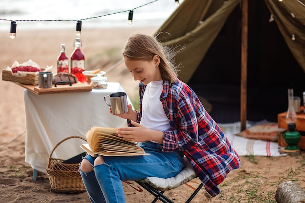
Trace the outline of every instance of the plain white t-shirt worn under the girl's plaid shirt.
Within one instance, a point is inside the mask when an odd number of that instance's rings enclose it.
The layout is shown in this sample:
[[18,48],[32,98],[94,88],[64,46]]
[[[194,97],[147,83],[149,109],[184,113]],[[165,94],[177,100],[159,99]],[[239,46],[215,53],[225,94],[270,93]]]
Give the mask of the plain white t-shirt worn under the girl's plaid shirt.
[[142,118],[140,124],[148,129],[167,131],[170,122],[166,116],[160,95],[163,90],[163,81],[152,81],[147,84],[142,100]]

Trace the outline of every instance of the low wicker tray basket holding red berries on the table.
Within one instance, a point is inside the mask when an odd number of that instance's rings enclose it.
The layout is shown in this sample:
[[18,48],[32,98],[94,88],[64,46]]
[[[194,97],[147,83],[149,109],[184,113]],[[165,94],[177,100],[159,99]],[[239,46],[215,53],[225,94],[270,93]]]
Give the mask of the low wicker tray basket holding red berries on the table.
[[25,85],[38,85],[38,73],[33,72],[21,77],[13,75],[11,71],[2,70],[2,80],[18,82]]

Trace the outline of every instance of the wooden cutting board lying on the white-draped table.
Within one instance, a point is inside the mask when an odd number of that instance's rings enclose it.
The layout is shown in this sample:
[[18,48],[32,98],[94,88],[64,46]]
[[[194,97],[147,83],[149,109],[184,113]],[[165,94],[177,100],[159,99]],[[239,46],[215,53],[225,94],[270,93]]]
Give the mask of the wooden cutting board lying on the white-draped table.
[[38,85],[24,85],[16,82],[16,84],[21,87],[26,88],[28,91],[33,92],[35,94],[55,94],[55,93],[67,93],[67,92],[90,92],[92,91],[92,86],[89,84],[82,84],[80,82],[76,84],[72,84],[72,86],[68,85],[58,85],[52,88],[39,88]]

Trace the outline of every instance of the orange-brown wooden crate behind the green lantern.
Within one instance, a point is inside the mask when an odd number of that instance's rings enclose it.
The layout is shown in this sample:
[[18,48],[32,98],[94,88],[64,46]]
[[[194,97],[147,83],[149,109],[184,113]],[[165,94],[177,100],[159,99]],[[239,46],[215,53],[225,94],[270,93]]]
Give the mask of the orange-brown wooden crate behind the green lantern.
[[[302,112],[297,114],[296,129],[298,131],[301,131],[301,134],[302,134],[300,142],[298,143],[298,146],[302,150],[305,150],[305,134],[303,134],[305,132],[305,113],[304,113],[303,109],[304,108],[301,107]],[[277,118],[278,118],[278,127],[279,128],[287,129],[286,113],[287,112],[283,112],[283,113],[278,114]],[[286,147],[287,146],[287,144],[285,142],[285,139],[283,138],[283,133],[279,134],[278,144],[281,147]]]

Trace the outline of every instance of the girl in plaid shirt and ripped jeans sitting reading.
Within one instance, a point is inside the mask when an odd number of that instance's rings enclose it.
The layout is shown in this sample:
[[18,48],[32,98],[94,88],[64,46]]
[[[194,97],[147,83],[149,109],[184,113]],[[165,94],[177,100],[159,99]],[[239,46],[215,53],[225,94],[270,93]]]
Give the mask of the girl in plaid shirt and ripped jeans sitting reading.
[[240,167],[240,160],[196,94],[177,78],[175,53],[154,37],[133,34],[122,54],[134,80],[140,81],[140,101],[139,111],[129,104],[128,112],[118,115],[127,119],[128,127],[117,134],[141,142],[150,155],[87,155],[79,171],[91,202],[125,203],[121,181],[173,177],[183,168],[183,156],[209,194],[216,196],[217,185]]

